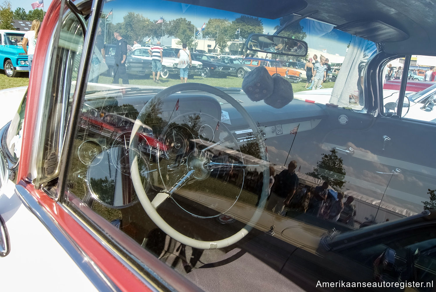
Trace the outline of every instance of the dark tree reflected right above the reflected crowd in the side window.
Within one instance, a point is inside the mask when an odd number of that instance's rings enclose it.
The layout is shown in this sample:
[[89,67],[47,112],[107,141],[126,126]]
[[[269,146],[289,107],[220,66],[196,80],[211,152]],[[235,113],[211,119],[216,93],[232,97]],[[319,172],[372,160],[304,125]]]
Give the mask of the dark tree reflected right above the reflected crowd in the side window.
[[322,154],[321,160],[317,162],[317,167],[313,172],[306,172],[317,179],[328,181],[330,186],[340,191],[345,184],[344,161],[337,156],[337,151],[332,149],[330,154]]

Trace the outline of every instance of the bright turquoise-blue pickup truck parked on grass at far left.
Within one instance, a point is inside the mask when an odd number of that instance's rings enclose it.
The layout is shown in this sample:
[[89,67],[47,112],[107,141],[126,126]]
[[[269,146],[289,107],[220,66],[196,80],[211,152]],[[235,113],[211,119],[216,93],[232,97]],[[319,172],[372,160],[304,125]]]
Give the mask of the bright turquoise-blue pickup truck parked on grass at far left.
[[29,72],[27,55],[21,47],[24,31],[0,30],[0,69],[8,77],[17,77],[20,72]]

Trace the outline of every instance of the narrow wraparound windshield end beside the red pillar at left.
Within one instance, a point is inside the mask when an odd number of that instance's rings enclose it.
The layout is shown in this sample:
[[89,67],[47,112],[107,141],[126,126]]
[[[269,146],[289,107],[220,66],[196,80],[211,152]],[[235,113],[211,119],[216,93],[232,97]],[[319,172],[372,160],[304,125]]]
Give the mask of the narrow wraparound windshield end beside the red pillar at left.
[[[49,69],[50,74],[57,77],[49,78],[47,85],[49,90],[43,103],[42,127],[38,130],[41,131],[39,134],[41,151],[34,153],[37,157],[36,161],[43,161],[42,164],[35,165],[38,175],[35,175],[34,182],[37,187],[58,175],[71,105],[70,98],[74,92],[80,68],[84,37],[80,22],[71,12],[68,12],[62,23],[57,41],[57,55],[52,56]],[[64,62],[58,62],[58,60],[64,60]],[[97,73],[91,70],[91,74]]]

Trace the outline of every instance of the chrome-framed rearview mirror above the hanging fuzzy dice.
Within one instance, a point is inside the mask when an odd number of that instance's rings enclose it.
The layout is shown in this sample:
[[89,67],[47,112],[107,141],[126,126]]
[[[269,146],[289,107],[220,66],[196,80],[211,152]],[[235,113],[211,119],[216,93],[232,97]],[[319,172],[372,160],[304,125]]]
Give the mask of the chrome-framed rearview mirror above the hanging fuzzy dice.
[[270,34],[250,34],[245,41],[245,48],[263,53],[277,55],[307,55],[307,43],[293,38],[279,37]]

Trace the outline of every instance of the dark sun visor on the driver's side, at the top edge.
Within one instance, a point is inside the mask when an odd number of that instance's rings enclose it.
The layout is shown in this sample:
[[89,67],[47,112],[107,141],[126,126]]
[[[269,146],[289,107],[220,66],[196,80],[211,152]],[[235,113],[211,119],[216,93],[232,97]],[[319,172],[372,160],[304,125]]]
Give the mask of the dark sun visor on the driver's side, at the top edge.
[[[262,0],[173,0],[174,2],[181,2],[191,5],[198,5],[203,7],[223,9],[225,10],[247,14],[254,17],[277,19],[285,15],[296,13],[307,7],[305,0],[276,0],[269,1],[268,4]],[[268,5],[268,9],[262,9],[264,5]]]

